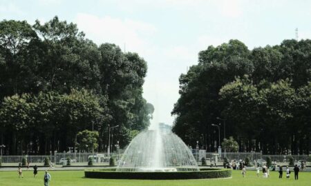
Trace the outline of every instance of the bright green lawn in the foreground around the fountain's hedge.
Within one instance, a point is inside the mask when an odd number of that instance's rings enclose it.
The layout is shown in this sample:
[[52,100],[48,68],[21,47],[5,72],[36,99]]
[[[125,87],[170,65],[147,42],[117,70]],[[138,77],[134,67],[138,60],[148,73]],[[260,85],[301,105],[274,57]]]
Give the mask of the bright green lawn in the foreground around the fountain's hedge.
[[[233,171],[232,178],[227,179],[212,179],[212,180],[104,180],[84,178],[83,171],[50,171],[52,176],[50,186],[97,186],[97,185],[133,185],[133,186],[148,186],[148,185],[209,185],[209,186],[222,186],[222,185],[293,185],[293,186],[309,186],[311,179],[311,172],[299,173],[299,180],[294,180],[294,174],[291,178],[279,179],[278,172],[270,172],[270,178],[256,177],[254,171],[247,172],[245,178],[242,177],[240,171]],[[43,183],[44,172],[39,172],[37,178],[33,178],[31,171],[24,171],[23,178],[18,178],[17,172],[0,172],[0,186],[13,185],[13,186],[35,186],[44,185]],[[283,176],[285,176],[283,174]]]

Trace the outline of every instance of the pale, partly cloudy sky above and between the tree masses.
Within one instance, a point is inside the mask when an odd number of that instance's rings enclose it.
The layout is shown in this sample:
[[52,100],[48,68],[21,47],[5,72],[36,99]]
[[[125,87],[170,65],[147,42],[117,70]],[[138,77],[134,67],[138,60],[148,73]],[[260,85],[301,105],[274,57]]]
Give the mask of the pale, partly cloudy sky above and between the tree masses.
[[243,0],[0,0],[0,20],[77,23],[97,45],[115,43],[148,64],[143,96],[154,121],[173,124],[180,74],[209,45],[238,39],[249,50],[284,39],[311,38],[311,1]]

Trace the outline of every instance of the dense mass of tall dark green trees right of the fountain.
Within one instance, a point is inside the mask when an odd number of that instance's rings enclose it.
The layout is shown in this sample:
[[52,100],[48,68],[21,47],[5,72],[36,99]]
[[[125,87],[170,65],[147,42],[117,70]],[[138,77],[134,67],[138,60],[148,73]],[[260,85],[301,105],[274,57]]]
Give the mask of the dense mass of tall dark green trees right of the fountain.
[[[180,75],[173,131],[215,151],[234,136],[239,151],[309,154],[311,143],[311,40],[248,50],[230,40],[198,54]],[[217,145],[214,145],[217,141]]]

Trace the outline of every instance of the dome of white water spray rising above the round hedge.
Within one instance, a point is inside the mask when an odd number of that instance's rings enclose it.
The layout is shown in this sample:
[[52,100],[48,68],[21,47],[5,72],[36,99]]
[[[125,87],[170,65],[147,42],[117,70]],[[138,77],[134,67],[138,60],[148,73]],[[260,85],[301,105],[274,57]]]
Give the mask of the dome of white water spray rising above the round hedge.
[[173,132],[151,125],[126,148],[117,172],[199,171],[190,149]]

